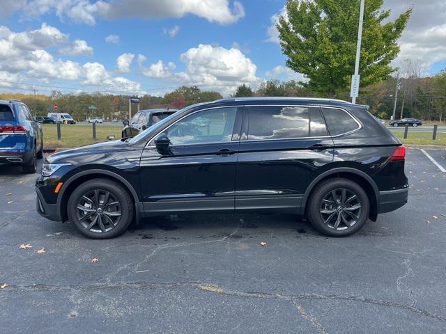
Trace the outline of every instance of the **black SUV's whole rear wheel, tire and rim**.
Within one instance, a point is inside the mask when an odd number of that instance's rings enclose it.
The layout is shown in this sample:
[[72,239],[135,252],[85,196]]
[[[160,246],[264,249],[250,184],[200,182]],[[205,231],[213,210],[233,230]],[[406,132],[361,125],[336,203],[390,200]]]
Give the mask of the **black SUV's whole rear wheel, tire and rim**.
[[[357,209],[353,211],[354,208]],[[369,198],[364,189],[342,178],[318,184],[307,202],[308,220],[316,230],[329,237],[346,237],[357,232],[369,218],[369,211]]]

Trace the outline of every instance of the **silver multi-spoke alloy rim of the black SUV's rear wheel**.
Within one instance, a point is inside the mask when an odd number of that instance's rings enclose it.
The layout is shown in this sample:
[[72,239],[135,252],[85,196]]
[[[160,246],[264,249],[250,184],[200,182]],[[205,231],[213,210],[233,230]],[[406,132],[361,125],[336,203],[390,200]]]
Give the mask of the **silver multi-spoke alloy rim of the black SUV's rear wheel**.
[[361,208],[362,204],[355,192],[339,188],[325,194],[319,212],[328,228],[347,230],[360,220]]

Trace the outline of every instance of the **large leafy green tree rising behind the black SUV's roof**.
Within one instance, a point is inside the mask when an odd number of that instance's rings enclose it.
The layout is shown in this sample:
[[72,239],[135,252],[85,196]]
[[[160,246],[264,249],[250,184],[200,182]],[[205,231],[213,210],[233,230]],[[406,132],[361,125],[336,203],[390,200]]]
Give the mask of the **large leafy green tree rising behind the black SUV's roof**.
[[[397,40],[412,12],[409,8],[394,22],[384,0],[365,1],[360,58],[361,86],[387,79],[390,62],[399,54]],[[305,74],[301,83],[319,95],[334,97],[351,85],[355,67],[360,0],[287,0],[286,17],[277,24],[286,65]]]

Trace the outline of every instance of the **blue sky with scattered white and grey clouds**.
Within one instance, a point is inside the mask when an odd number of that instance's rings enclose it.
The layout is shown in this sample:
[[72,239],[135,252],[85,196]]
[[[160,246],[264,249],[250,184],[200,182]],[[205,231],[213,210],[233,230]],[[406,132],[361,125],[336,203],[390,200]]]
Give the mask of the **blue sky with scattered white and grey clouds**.
[[[196,85],[231,95],[240,84],[303,79],[285,66],[275,22],[285,0],[0,0],[0,92],[162,96]],[[366,0],[367,2],[367,0]],[[446,0],[413,7],[392,65],[446,67]]]

